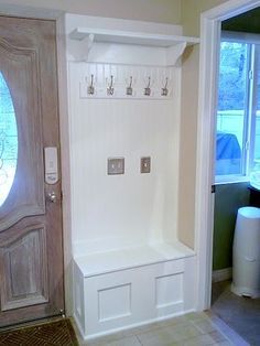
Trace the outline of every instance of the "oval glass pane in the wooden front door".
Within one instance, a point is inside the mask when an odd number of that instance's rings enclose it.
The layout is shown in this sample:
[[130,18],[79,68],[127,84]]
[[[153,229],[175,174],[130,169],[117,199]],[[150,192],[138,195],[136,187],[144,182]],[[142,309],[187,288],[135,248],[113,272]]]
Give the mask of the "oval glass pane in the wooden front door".
[[12,97],[0,72],[0,206],[7,199],[18,163],[18,127]]

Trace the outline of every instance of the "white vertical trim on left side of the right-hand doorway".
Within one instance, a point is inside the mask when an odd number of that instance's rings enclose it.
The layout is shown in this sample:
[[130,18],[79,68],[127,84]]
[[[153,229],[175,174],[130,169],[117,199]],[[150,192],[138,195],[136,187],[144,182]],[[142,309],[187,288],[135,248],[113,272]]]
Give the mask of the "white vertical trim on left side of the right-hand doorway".
[[[215,115],[216,109],[217,42],[219,42],[220,36],[219,22],[215,22],[215,25],[210,26],[208,21],[203,19],[202,33],[203,40],[207,43],[201,48],[199,99],[203,97],[204,104],[199,102],[198,106],[197,151],[199,161],[197,162],[197,201],[195,203],[195,247],[198,251],[197,293],[199,310],[210,306],[210,290],[208,288],[210,288],[212,282],[213,233],[209,233],[208,230],[213,229],[214,213],[214,194],[212,194],[212,185],[214,184],[214,162],[212,158],[214,156],[213,150],[215,148],[215,116],[208,117],[208,113]],[[208,48],[209,44],[210,50]],[[215,68],[213,68],[213,66],[215,66]],[[208,85],[212,87],[208,87]],[[207,143],[206,147],[205,143]],[[207,167],[206,170],[205,166]],[[205,213],[205,209],[207,213]]]

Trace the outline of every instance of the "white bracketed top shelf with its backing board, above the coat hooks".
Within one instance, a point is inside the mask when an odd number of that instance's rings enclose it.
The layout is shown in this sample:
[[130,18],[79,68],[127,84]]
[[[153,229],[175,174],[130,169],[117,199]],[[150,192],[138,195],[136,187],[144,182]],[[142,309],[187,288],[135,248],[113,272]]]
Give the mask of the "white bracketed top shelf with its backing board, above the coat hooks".
[[[142,61],[144,64],[152,64],[155,55],[161,55],[161,58],[155,60],[155,64],[174,66],[184,52],[183,46],[199,42],[197,37],[172,34],[176,31],[175,25],[161,25],[161,32],[158,33],[158,25],[153,23],[148,30],[147,25],[131,21],[127,21],[127,25],[121,23],[121,26],[119,22],[118,25],[115,23],[113,26],[108,26],[106,22],[100,21],[99,28],[97,23],[90,22],[91,24],[83,15],[66,15],[68,60],[140,65]],[[142,54],[138,54],[140,51]],[[153,54],[148,54],[151,51]]]

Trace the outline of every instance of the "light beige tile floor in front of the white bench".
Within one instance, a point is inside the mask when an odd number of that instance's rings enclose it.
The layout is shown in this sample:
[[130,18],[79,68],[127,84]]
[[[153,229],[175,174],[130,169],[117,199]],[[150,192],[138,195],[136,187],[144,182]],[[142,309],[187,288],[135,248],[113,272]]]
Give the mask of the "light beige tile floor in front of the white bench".
[[[75,331],[77,331],[75,326]],[[189,313],[167,321],[152,323],[117,334],[83,342],[77,333],[80,346],[205,346],[205,345],[247,345],[230,333],[221,331],[210,315]],[[240,343],[241,342],[241,343]]]

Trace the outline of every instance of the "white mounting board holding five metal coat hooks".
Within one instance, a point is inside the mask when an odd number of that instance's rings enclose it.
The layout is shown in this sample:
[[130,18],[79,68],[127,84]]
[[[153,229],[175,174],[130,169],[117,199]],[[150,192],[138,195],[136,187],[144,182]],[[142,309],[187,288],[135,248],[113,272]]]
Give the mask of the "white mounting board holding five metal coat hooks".
[[[132,66],[115,64],[88,63],[82,65],[83,77],[79,83],[79,97],[83,98],[122,98],[122,99],[145,99],[145,100],[167,100],[175,96],[176,73],[174,68],[161,66]],[[108,87],[112,76],[112,95],[108,94]],[[144,95],[150,78],[151,94]],[[127,94],[130,85],[132,95]],[[167,95],[162,94],[166,84]],[[89,94],[89,87],[93,94]]]

